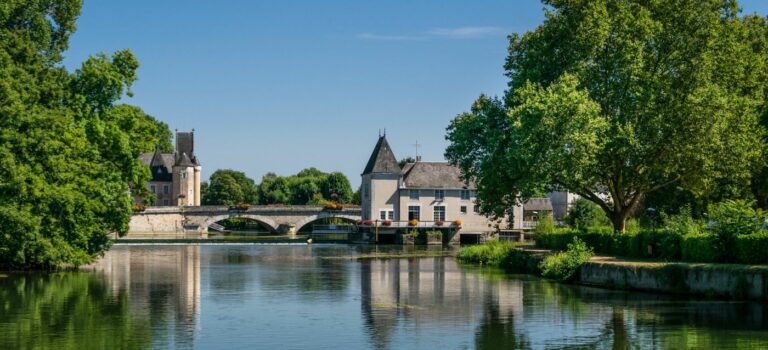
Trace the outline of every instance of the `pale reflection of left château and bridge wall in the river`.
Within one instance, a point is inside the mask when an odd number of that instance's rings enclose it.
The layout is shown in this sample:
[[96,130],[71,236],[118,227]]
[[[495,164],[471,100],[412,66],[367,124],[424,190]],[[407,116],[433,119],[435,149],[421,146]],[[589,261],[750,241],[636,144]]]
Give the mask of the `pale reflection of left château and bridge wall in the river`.
[[[199,246],[115,246],[91,267],[106,275],[115,296],[127,294],[134,318],[150,320],[154,330],[169,330],[155,334],[155,341],[192,344],[200,316]],[[155,325],[162,322],[169,324]]]

